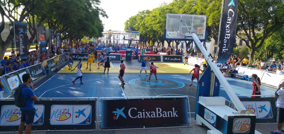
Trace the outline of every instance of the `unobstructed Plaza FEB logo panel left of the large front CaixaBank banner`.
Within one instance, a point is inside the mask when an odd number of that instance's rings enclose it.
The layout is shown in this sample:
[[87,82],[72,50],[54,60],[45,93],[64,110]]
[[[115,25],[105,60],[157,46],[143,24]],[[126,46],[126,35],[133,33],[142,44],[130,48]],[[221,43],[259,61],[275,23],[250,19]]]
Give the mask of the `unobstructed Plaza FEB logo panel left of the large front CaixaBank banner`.
[[49,119],[50,124],[90,124],[91,110],[91,105],[52,105]]

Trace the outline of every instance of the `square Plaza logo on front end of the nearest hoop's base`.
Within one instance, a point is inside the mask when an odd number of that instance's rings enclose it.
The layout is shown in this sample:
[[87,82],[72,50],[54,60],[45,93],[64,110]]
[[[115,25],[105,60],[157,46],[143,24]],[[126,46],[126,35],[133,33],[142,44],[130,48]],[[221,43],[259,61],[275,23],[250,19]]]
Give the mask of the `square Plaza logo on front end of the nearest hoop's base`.
[[249,133],[250,118],[235,118],[233,121],[233,133]]

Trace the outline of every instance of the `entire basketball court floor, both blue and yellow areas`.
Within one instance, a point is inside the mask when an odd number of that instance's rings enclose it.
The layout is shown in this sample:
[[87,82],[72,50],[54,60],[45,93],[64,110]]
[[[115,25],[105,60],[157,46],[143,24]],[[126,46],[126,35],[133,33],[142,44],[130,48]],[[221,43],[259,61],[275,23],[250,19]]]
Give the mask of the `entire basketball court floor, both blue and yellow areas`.
[[[40,98],[81,98],[81,97],[134,97],[134,96],[189,96],[190,112],[195,112],[195,101],[197,92],[197,80],[193,81],[191,87],[191,76],[188,73],[194,66],[183,65],[183,63],[154,63],[157,66],[158,82],[155,75],[152,75],[151,81],[147,82],[149,76],[145,71],[139,76],[141,64],[137,60],[124,62],[126,65],[123,79],[126,83],[120,85],[118,79],[119,62],[111,62],[109,74],[103,74],[102,66],[97,68],[97,64],[92,63],[91,71],[86,68],[86,62],[83,62],[83,83],[80,80],[72,84],[72,80],[77,77],[76,70],[68,70],[65,64],[57,73],[46,75],[42,80],[36,81],[37,87],[34,93]],[[74,62],[76,65],[77,62]],[[147,63],[149,65],[149,63]],[[74,66],[74,65],[73,65]],[[148,68],[147,68],[148,69]],[[147,70],[149,75],[149,70]],[[200,73],[201,77],[201,73]],[[232,86],[237,95],[250,95],[252,93],[252,83],[237,78],[227,77],[226,80]],[[261,86],[262,95],[273,95],[275,89]],[[220,96],[230,101],[224,88],[220,87]]]

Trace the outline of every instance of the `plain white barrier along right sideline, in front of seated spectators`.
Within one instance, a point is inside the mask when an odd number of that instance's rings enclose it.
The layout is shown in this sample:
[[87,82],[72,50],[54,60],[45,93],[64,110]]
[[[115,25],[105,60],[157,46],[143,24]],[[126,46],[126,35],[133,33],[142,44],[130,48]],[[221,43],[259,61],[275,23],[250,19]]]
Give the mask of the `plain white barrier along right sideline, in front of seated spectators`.
[[257,76],[261,80],[261,83],[264,83],[266,85],[278,87],[279,83],[284,80],[283,74],[276,74],[274,72],[244,66],[238,66],[238,68],[240,68],[238,70],[239,76],[251,76],[252,74],[257,74]]

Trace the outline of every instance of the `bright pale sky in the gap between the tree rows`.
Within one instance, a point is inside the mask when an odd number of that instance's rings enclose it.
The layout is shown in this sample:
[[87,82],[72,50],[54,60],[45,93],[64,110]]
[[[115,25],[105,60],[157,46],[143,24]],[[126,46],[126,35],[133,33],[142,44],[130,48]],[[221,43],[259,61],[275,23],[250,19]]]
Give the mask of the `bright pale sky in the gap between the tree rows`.
[[139,11],[152,10],[162,2],[169,4],[173,0],[101,0],[99,7],[105,10],[108,18],[102,18],[104,31],[124,31],[124,23]]

